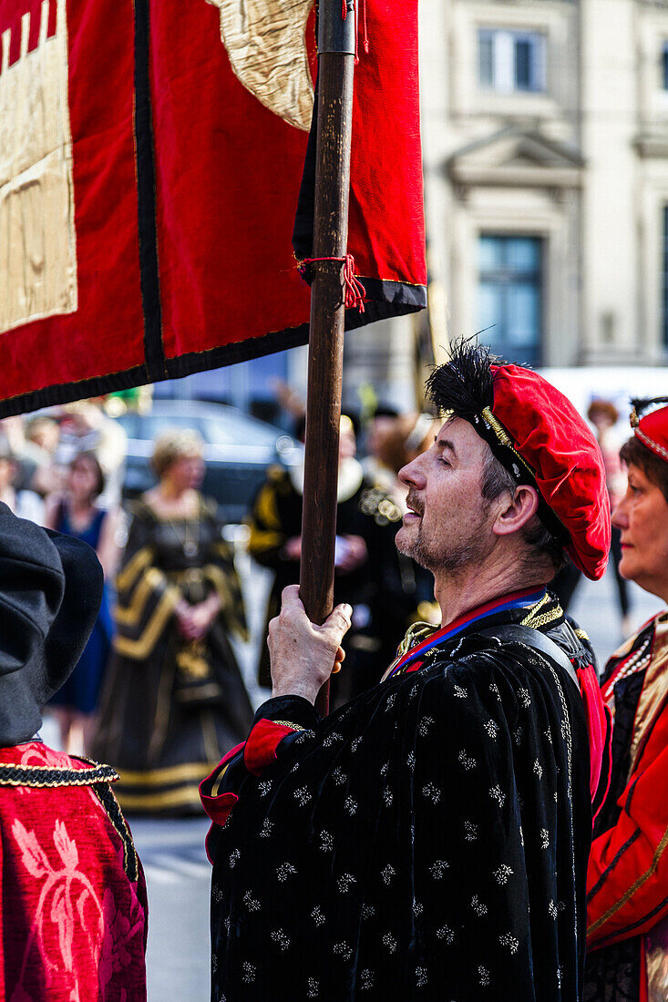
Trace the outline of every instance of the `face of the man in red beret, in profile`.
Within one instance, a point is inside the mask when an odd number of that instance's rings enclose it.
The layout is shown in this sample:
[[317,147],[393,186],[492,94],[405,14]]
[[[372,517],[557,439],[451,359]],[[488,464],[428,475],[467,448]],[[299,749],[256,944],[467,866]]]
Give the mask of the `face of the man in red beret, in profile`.
[[397,548],[434,574],[479,563],[493,546],[493,515],[480,493],[487,450],[467,421],[453,418],[399,471],[410,510]]

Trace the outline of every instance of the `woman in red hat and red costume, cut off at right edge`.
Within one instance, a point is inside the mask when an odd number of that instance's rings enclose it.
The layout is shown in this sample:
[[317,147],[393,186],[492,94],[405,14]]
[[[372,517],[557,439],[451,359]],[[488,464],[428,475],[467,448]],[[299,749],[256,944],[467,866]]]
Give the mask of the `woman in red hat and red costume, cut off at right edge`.
[[[622,575],[668,603],[668,398],[634,401],[615,511]],[[663,406],[660,406],[663,405]],[[668,611],[610,659],[612,777],[588,871],[585,1002],[668,999]]]

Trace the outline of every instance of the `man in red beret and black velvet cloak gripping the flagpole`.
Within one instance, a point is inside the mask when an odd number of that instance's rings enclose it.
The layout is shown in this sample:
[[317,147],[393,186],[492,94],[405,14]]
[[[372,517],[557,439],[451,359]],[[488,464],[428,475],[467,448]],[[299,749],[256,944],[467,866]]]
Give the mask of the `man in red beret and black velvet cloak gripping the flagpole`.
[[442,625],[320,719],[350,608],[315,626],[285,589],[273,698],[202,787],[217,1000],[581,996],[607,720],[547,585],[565,551],[605,569],[602,457],[565,397],[483,348],[428,391],[445,421],[400,473],[397,545],[433,572]]

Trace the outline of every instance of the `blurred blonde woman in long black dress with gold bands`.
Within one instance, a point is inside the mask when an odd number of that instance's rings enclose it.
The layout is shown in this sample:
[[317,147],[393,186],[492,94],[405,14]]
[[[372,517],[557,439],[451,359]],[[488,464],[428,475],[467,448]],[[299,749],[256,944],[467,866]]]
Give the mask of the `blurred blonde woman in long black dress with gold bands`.
[[120,774],[128,812],[200,813],[200,781],[252,720],[229,639],[246,638],[244,606],[216,503],[199,491],[201,439],[166,432],[152,465],[157,485],[130,506],[94,756]]

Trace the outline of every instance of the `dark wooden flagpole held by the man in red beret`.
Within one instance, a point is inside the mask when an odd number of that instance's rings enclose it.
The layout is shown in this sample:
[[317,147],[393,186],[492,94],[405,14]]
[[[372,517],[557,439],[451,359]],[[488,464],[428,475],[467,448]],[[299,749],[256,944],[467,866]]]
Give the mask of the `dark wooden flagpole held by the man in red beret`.
[[[355,11],[318,8],[318,130],[313,259],[343,259],[348,244]],[[316,261],[311,287],[300,597],[312,622],[333,607],[336,490],[345,318],[343,263]],[[316,702],[329,708],[329,683]]]

